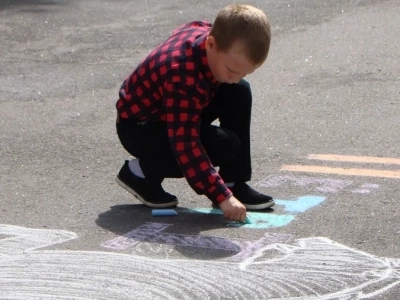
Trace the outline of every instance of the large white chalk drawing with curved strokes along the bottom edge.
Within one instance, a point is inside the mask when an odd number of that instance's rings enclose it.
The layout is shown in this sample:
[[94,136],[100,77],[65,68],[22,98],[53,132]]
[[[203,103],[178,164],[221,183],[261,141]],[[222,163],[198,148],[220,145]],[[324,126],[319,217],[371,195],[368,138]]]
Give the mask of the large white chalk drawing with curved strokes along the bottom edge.
[[234,263],[39,249],[76,238],[62,230],[0,225],[0,236],[1,299],[375,299],[400,283],[399,259],[327,238]]

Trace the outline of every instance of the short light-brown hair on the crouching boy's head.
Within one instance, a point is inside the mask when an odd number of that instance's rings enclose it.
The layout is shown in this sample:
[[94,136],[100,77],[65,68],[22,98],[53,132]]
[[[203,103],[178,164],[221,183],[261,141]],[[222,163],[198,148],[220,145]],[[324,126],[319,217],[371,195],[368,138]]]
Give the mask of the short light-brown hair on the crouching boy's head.
[[234,4],[223,8],[211,28],[219,50],[227,52],[235,42],[243,45],[244,54],[254,64],[268,56],[271,27],[265,13],[253,6]]

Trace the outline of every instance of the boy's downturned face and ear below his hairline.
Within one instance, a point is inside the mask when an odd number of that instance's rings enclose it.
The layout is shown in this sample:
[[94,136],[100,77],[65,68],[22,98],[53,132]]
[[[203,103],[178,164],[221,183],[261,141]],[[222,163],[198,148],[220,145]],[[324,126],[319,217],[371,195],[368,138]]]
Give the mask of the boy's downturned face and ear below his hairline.
[[249,62],[238,42],[224,52],[218,49],[214,37],[209,36],[206,40],[206,50],[211,73],[221,83],[238,83],[259,67]]

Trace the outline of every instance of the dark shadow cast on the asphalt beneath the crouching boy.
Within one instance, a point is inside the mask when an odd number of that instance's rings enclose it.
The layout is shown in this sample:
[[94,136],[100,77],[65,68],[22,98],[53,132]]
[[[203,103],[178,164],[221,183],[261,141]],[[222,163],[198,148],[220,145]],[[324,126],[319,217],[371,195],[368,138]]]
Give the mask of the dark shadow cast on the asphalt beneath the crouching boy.
[[147,232],[140,231],[140,234],[135,234],[134,240],[170,244],[176,251],[190,258],[221,259],[239,254],[243,250],[240,243],[229,238],[200,234],[208,230],[229,228],[222,215],[193,213],[182,207],[174,209],[177,216],[153,217],[152,209],[141,204],[115,205],[99,214],[96,224],[127,238],[131,238],[127,235],[129,232],[146,224],[168,224],[167,228],[156,233],[151,229]]

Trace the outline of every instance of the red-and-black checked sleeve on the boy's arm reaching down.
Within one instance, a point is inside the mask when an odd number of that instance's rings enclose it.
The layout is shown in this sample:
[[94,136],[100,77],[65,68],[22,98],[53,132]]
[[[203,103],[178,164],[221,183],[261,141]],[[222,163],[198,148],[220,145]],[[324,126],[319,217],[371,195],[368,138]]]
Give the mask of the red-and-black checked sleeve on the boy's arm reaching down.
[[192,189],[210,200],[222,202],[232,192],[225,185],[200,140],[200,115],[205,91],[196,85],[166,83],[164,106],[168,137],[182,173]]

